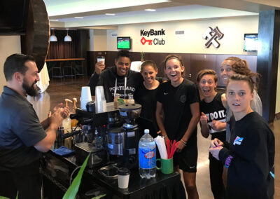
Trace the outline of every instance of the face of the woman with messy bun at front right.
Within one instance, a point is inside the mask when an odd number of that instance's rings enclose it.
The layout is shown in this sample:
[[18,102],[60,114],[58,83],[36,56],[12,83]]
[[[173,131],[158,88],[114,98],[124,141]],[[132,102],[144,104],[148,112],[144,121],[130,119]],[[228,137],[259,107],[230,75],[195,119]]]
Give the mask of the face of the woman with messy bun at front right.
[[247,81],[231,80],[225,95],[235,119],[239,120],[251,111],[250,103],[253,99],[253,92]]

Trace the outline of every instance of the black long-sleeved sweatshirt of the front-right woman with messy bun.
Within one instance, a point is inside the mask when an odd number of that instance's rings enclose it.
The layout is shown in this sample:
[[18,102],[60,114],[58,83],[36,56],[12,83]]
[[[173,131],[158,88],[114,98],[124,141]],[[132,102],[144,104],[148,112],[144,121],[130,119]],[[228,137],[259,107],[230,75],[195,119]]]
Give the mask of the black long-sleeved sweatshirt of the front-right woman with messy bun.
[[272,177],[275,138],[267,122],[256,112],[230,119],[230,149],[219,159],[228,167],[228,198],[273,198]]

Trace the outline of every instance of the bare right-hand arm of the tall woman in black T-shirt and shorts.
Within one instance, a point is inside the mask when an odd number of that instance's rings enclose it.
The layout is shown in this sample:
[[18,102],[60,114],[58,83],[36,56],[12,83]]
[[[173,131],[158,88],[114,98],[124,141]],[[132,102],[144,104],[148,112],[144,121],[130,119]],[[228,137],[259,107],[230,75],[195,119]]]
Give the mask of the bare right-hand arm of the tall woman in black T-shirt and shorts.
[[195,102],[190,104],[190,111],[192,113],[192,118],[190,119],[190,123],[188,124],[188,129],[186,130],[185,135],[183,135],[179,142],[176,150],[178,152],[180,152],[186,146],[188,139],[193,134],[193,131],[197,127],[197,123],[200,121],[200,103]]

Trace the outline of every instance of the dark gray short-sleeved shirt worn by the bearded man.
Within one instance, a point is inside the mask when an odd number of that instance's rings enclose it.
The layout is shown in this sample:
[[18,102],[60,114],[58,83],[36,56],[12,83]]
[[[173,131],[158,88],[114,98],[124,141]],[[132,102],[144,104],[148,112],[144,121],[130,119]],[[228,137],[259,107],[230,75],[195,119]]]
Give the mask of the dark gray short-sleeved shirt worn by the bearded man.
[[45,130],[32,104],[6,86],[0,97],[0,127],[0,170],[29,165],[41,157],[34,144],[45,138]]

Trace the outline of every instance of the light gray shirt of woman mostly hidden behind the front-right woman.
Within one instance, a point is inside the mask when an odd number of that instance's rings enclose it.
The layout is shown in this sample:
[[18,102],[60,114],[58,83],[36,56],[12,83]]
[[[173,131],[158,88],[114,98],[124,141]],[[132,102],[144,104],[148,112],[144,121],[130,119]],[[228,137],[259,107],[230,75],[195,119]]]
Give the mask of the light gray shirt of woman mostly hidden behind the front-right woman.
[[[256,90],[253,90],[253,100],[251,101],[251,108],[253,111],[257,112],[260,116],[262,116],[262,101],[260,100],[260,96],[258,96],[258,92]],[[230,107],[227,104],[227,129],[226,129],[226,141],[230,141],[230,118],[232,117],[232,111],[230,110]]]

